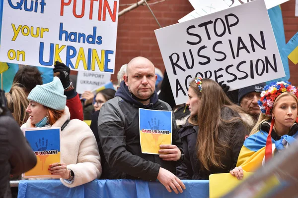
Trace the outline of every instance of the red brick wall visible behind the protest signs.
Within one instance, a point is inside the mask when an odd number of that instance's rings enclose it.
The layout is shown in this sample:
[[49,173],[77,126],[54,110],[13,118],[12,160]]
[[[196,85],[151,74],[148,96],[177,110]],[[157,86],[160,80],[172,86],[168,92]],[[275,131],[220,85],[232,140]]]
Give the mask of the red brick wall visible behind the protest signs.
[[[136,1],[137,0],[120,0],[120,4],[134,3]],[[150,0],[149,3],[155,1],[157,0]],[[120,6],[119,10],[121,11],[126,7],[128,6]],[[188,0],[167,0],[150,5],[150,7],[162,27],[177,23],[178,19],[193,10]],[[295,17],[295,0],[283,3],[281,7],[284,18],[286,42],[288,42],[298,31],[298,17]],[[154,34],[154,30],[158,28],[147,6],[139,6],[119,17],[116,66],[115,75],[112,75],[113,81],[117,81],[117,72],[121,65],[128,63],[128,61],[136,56],[149,58],[155,67],[164,71],[163,61]],[[298,85],[298,65],[294,65],[290,60],[289,64],[291,72],[290,81],[294,85]]]

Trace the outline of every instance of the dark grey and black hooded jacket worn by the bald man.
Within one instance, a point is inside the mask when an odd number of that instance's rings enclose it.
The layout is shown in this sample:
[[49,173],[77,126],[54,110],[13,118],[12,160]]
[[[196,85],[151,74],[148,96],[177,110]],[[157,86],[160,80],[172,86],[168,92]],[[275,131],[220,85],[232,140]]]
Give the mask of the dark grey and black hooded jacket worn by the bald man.
[[[177,162],[164,161],[155,154],[144,154],[140,145],[139,108],[169,110],[171,107],[159,100],[156,92],[149,105],[137,101],[121,82],[115,98],[105,102],[98,117],[98,135],[106,158],[104,170],[108,179],[156,180],[159,168],[175,173]],[[182,145],[172,113],[172,144]]]

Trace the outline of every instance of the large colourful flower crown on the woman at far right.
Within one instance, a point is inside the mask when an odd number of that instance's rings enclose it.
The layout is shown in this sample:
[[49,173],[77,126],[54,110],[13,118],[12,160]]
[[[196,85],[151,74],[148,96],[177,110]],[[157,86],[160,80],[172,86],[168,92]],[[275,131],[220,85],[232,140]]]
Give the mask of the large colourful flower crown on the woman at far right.
[[288,81],[281,81],[266,85],[264,91],[261,93],[261,98],[258,101],[261,112],[264,115],[271,116],[275,99],[284,92],[291,92],[298,97],[296,87],[291,85]]

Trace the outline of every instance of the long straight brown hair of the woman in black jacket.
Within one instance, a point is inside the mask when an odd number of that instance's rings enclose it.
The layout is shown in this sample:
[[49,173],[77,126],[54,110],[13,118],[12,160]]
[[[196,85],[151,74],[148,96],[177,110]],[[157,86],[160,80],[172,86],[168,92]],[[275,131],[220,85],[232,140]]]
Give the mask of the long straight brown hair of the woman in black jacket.
[[[230,149],[232,127],[242,121],[237,116],[226,116],[223,108],[228,107],[236,113],[245,112],[240,106],[233,104],[221,86],[211,79],[202,79],[202,92],[199,91],[195,80],[190,82],[190,89],[199,97],[197,115],[191,116],[189,122],[199,126],[196,147],[201,168],[223,168],[222,157]],[[224,119],[225,117],[228,117],[228,120]]]

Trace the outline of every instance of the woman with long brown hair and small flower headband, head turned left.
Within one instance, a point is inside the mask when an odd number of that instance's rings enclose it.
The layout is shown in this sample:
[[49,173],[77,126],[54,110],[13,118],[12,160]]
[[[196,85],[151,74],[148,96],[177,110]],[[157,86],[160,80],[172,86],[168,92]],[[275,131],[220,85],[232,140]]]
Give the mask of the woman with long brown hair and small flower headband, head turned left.
[[237,162],[253,119],[233,104],[222,87],[211,79],[190,82],[191,116],[180,129],[184,160],[176,169],[180,179],[209,179],[210,174],[228,173]]

